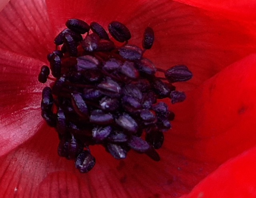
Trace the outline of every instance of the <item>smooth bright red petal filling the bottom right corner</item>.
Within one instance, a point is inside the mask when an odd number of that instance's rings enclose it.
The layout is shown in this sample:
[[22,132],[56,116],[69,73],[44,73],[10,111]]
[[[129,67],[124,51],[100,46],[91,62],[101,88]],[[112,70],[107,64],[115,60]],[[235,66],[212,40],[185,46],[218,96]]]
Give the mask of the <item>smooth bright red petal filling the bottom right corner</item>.
[[255,159],[256,147],[222,165],[182,198],[255,198]]

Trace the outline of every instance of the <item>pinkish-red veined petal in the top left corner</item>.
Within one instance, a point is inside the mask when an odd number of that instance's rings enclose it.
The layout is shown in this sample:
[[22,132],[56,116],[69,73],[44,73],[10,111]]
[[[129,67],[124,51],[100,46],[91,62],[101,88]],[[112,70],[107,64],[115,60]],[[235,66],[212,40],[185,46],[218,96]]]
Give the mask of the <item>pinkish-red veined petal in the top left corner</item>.
[[0,22],[2,49],[46,60],[54,45],[44,0],[11,0],[0,12]]

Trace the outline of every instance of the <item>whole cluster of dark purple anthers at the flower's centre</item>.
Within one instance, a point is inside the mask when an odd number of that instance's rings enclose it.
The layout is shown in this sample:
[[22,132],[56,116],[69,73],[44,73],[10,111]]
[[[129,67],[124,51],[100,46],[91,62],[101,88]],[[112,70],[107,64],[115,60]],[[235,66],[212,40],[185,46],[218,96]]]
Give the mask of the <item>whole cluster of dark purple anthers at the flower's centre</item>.
[[60,139],[58,155],[75,160],[81,173],[95,165],[93,145],[102,145],[115,159],[125,159],[132,149],[160,161],[156,149],[175,117],[161,99],[170,105],[185,100],[172,82],[189,80],[192,73],[185,65],[157,68],[144,57],[154,42],[150,27],[141,49],[128,44],[130,31],[120,22],[111,22],[108,31],[122,46],[96,22],[89,26],[70,19],[66,26],[47,55],[50,69],[44,65],[38,75],[41,83],[53,81],[42,90],[40,106],[42,118]]

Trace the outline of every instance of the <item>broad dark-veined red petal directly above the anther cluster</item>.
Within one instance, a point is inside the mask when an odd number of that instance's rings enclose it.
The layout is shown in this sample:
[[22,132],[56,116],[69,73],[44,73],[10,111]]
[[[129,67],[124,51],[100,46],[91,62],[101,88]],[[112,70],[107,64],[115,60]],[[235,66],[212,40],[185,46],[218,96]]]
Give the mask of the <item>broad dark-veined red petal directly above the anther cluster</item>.
[[76,0],[72,4],[69,0],[46,0],[46,4],[52,25],[58,31],[68,18],[97,21],[104,27],[119,20],[130,28],[130,42],[140,46],[144,28],[149,25],[156,39],[146,57],[162,68],[188,65],[194,73],[190,88],[255,51],[255,36],[248,26],[170,0]]

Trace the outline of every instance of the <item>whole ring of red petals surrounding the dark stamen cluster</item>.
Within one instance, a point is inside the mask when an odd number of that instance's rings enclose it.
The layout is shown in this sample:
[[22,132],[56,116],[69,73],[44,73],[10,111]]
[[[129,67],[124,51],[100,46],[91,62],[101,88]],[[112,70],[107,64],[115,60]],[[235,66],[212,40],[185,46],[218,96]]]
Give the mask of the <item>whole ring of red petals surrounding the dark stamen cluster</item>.
[[[170,0],[69,2],[11,0],[0,13],[1,196],[255,197],[255,14],[246,12],[255,3],[228,10],[199,0],[183,1],[198,7]],[[104,27],[121,21],[136,45],[150,25],[156,42],[145,56],[162,68],[178,63],[192,70],[193,80],[179,85],[187,100],[170,106],[176,119],[160,162],[136,153],[117,161],[96,147],[96,166],[81,174],[58,157],[58,137],[40,117],[37,74],[68,18]]]

